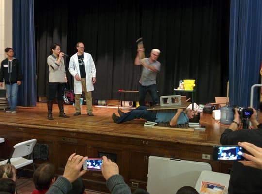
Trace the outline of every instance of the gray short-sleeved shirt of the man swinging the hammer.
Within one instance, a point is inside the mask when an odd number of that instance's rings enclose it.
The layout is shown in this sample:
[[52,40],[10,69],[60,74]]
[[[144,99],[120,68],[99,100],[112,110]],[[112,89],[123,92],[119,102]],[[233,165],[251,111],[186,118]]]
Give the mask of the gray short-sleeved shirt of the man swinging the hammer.
[[[148,65],[154,66],[158,72],[160,71],[160,63],[158,61],[150,63],[149,58],[144,58],[142,60],[144,60]],[[143,71],[139,83],[144,86],[156,84],[156,76],[157,76],[157,72],[154,72],[143,66]]]

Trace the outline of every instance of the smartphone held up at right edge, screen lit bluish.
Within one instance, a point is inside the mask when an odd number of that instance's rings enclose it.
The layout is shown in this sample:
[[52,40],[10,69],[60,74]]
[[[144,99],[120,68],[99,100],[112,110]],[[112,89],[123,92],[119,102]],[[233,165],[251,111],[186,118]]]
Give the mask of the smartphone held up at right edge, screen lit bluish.
[[237,145],[229,146],[214,146],[213,160],[215,161],[239,161],[244,160],[242,153],[245,153],[245,149]]

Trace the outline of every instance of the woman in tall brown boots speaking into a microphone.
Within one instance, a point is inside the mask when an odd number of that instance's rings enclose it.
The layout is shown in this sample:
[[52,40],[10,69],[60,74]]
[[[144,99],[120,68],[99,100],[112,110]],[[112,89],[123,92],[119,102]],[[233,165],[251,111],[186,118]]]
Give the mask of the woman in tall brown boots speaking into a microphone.
[[61,52],[60,45],[51,45],[51,55],[47,58],[47,63],[49,66],[49,96],[48,96],[48,120],[54,120],[53,118],[53,100],[57,93],[57,102],[59,108],[59,117],[69,118],[64,113],[64,91],[66,87],[67,77],[66,68],[64,64],[63,56],[65,54]]

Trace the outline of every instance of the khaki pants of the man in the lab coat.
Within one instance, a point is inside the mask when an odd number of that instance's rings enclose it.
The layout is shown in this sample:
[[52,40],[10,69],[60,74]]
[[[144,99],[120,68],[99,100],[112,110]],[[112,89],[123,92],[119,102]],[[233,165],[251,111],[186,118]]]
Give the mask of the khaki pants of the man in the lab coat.
[[[82,84],[82,91],[84,90],[85,94],[85,99],[86,99],[86,111],[87,113],[92,113],[92,92],[87,92],[86,91],[86,82],[85,78],[81,78],[81,84]],[[81,107],[80,107],[80,96],[81,94],[75,94],[75,101],[76,101],[76,112],[81,112]]]

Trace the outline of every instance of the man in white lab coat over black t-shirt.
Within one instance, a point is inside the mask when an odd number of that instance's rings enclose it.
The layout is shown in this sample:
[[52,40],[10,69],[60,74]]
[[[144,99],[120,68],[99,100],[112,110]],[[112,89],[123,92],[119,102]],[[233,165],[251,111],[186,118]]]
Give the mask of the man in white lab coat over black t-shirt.
[[85,92],[87,115],[94,116],[92,113],[92,91],[96,82],[96,67],[92,56],[84,52],[84,44],[78,42],[76,45],[77,53],[70,58],[69,72],[74,77],[75,107],[74,116],[81,114],[80,96],[82,90]]

